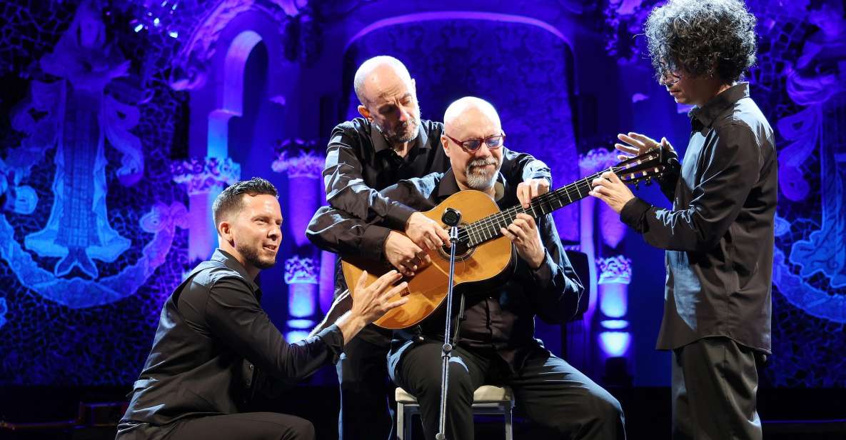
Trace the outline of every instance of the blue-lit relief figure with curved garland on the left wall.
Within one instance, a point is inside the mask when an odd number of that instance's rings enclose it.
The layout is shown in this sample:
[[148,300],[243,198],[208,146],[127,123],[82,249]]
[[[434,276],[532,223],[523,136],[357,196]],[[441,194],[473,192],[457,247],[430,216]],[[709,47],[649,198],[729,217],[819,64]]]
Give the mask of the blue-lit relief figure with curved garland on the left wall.
[[[107,304],[135,294],[162,265],[175,228],[186,227],[187,213],[179,202],[154,203],[140,217],[140,229],[153,234],[141,256],[101,277],[96,261],[113,262],[132,245],[109,222],[106,149],[120,153],[115,170],[120,184],[133,186],[144,174],[141,141],[130,132],[140,112],[107,93],[113,80],[128,75],[129,61],[106,41],[102,12],[85,2],[39,66],[58,80],[33,80],[30,96],[14,108],[12,126],[24,138],[0,159],[0,190],[7,194],[6,211],[34,212],[36,191],[25,182],[54,150],[52,208],[45,226],[23,237],[26,250],[0,215],[0,258],[22,284],[48,300],[71,308]],[[58,260],[47,271],[34,255]]]

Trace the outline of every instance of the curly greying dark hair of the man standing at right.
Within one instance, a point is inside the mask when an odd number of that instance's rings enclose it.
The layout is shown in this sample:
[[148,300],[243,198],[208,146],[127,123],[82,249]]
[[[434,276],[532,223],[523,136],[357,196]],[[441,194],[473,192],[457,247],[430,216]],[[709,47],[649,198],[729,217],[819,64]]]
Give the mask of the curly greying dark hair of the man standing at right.
[[670,0],[646,19],[656,78],[684,69],[695,77],[740,80],[755,63],[755,15],[743,0]]

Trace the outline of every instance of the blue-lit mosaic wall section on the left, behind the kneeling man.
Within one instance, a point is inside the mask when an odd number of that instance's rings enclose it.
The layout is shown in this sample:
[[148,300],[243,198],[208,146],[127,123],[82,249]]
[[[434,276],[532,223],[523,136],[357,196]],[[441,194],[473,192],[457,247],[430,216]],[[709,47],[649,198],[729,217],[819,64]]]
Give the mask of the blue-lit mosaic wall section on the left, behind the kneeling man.
[[[185,269],[172,38],[98,3],[3,3],[0,381],[132,382]],[[132,54],[131,59],[125,54]]]

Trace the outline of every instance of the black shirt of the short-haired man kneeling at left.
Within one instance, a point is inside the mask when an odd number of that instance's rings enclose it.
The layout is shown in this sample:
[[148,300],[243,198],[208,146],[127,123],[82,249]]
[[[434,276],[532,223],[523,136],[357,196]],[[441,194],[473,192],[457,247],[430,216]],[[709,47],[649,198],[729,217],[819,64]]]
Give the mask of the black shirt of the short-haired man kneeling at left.
[[336,362],[338,326],[288,344],[261,309],[261,289],[233,256],[216,250],[165,301],[123,421],[163,425],[186,416],[242,412]]

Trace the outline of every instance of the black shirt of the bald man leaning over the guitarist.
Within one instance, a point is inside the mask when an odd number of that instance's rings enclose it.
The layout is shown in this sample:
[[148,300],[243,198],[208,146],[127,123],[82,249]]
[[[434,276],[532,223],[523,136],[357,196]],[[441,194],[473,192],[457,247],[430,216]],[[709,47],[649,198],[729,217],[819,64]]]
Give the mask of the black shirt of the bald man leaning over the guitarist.
[[[379,190],[400,179],[447,171],[449,157],[443,151],[442,134],[442,123],[421,119],[414,144],[405,157],[400,157],[367,119],[355,118],[338,124],[329,138],[323,170],[330,206],[321,207],[312,217],[305,233],[308,239],[322,250],[342,257],[382,260],[387,235],[392,229],[404,231],[405,223],[416,210],[379,194]],[[515,182],[547,179],[552,183],[545,163],[505,147],[501,171]],[[338,264],[335,295],[346,289]],[[380,331],[374,325],[365,327],[359,336],[384,347],[390,343],[390,332]]]

